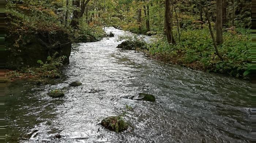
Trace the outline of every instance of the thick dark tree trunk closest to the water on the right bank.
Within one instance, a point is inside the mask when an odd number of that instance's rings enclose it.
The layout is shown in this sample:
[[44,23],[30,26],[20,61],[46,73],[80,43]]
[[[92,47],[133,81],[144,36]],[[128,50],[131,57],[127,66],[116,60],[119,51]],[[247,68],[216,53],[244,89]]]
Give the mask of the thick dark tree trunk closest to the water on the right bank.
[[172,11],[170,0],[165,0],[165,33],[168,43],[175,44],[172,32]]

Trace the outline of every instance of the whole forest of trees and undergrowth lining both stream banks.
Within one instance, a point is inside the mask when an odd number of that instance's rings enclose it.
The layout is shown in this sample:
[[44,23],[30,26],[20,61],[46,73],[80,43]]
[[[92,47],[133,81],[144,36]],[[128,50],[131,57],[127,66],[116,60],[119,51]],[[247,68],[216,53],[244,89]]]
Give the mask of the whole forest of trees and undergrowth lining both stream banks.
[[[143,46],[154,59],[246,78],[251,61],[250,5],[248,0],[9,0],[7,67],[19,69],[11,74],[14,77],[36,72],[27,66],[40,66],[60,47],[65,53],[57,57],[68,59],[71,43],[100,40],[104,27],[113,26],[154,36]],[[59,74],[58,68],[53,72]]]

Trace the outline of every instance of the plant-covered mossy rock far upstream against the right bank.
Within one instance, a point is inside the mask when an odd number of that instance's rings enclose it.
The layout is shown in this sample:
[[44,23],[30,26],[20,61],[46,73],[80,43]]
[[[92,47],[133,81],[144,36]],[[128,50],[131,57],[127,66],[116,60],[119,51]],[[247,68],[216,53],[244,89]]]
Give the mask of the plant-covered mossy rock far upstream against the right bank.
[[144,43],[140,41],[126,40],[117,46],[117,48],[136,50],[136,48],[143,49]]

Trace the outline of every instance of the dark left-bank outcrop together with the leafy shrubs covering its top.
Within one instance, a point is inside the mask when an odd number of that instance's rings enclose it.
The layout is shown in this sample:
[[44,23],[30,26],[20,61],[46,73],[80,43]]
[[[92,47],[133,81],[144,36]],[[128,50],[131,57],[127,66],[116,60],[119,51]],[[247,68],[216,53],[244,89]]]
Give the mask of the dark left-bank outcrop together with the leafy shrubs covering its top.
[[15,4],[9,2],[6,9],[5,49],[8,69],[39,66],[49,56],[66,56],[71,53],[71,29],[62,24],[54,13],[54,7]]

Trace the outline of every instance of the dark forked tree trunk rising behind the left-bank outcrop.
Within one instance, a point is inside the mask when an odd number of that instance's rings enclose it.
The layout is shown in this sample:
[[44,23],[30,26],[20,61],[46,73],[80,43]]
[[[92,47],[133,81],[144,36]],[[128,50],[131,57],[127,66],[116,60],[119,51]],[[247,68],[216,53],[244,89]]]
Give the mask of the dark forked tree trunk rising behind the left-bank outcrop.
[[79,25],[79,19],[83,16],[83,13],[85,11],[86,5],[89,3],[90,0],[82,0],[82,2],[80,0],[74,0],[73,1],[73,5],[77,8],[80,8],[80,10],[75,10],[73,12],[73,18],[71,20],[70,25],[72,27],[78,27]]

